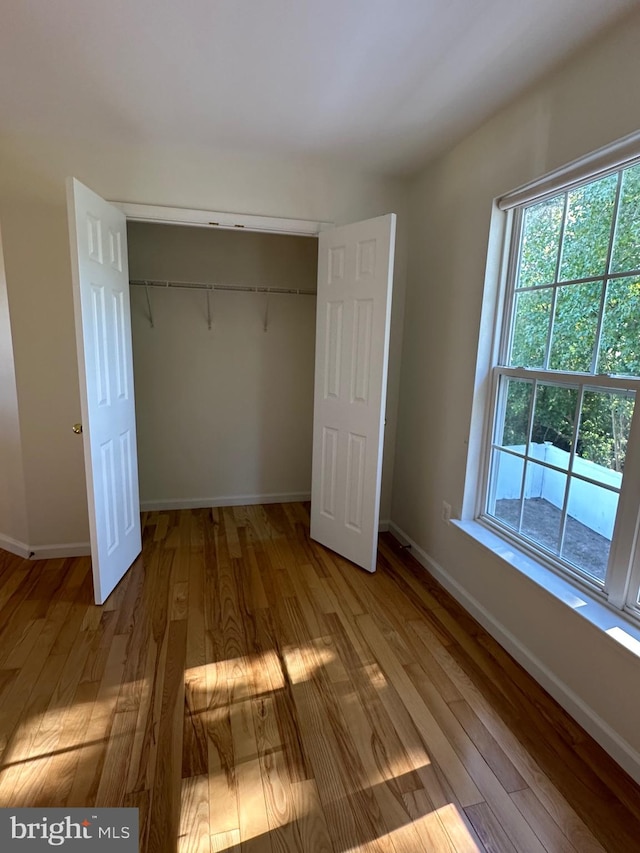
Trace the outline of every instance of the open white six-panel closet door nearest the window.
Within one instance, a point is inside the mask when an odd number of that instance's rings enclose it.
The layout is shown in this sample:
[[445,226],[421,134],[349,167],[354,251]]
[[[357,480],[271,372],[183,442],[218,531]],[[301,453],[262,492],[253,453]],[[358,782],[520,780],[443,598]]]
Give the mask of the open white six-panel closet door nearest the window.
[[311,537],[370,572],[378,548],[395,214],[320,233]]

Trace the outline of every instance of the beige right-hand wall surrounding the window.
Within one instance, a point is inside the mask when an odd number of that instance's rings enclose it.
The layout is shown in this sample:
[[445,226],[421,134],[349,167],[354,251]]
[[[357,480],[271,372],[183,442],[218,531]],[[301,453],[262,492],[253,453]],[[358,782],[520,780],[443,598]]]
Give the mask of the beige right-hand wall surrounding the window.
[[472,424],[472,404],[487,390],[476,358],[478,344],[486,353],[491,343],[483,306],[491,301],[492,199],[637,130],[638,44],[635,14],[417,176],[392,520],[608,747],[618,744],[640,778],[640,660],[441,521],[443,500],[460,513],[467,454],[482,426]]

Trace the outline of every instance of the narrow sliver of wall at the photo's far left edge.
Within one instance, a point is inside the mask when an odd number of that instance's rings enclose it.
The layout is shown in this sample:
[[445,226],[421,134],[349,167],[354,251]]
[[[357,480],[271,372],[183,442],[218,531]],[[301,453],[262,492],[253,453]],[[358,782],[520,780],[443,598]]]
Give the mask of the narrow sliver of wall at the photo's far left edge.
[[11,319],[0,237],[0,548],[26,556],[27,541]]

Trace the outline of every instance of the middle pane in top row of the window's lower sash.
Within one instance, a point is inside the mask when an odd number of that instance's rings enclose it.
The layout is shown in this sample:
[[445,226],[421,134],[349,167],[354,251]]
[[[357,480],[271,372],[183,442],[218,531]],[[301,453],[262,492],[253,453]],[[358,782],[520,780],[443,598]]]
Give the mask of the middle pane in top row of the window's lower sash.
[[577,402],[575,388],[538,385],[531,431],[532,456],[558,468],[569,468]]

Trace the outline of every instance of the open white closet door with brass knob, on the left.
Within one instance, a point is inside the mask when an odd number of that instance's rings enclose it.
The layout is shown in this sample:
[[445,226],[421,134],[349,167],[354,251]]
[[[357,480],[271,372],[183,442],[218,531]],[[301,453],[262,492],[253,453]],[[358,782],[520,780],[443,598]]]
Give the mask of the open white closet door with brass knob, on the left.
[[103,604],[142,547],[127,231],[124,214],[75,178],[67,204],[93,587]]

